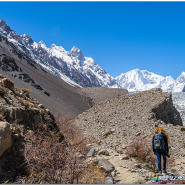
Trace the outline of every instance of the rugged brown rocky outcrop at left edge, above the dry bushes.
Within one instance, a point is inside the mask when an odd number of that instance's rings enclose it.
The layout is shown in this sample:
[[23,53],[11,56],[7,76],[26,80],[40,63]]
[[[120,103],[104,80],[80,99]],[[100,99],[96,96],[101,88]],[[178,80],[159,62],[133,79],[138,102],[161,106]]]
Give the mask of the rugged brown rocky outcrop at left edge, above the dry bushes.
[[18,89],[13,82],[0,75],[0,156],[11,147],[13,140],[26,137],[29,130],[38,127],[54,133],[61,142],[60,132],[53,114],[37,100],[31,98],[29,89]]

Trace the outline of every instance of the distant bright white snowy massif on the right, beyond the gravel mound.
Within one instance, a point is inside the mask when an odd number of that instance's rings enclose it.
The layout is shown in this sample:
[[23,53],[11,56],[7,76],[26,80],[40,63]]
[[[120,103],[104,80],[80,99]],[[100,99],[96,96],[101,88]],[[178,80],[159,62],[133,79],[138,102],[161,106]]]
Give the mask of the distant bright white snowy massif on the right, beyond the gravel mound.
[[183,72],[177,80],[171,76],[163,77],[147,70],[134,69],[127,73],[122,73],[116,77],[122,88],[128,91],[144,91],[151,88],[161,88],[166,92],[185,91],[185,73]]

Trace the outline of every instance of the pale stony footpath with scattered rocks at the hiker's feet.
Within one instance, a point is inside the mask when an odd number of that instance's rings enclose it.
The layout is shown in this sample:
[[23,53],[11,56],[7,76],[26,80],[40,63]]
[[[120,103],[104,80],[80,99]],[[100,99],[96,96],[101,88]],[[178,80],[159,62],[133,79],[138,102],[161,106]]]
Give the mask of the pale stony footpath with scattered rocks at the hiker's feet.
[[[128,157],[112,149],[98,149],[98,151],[98,155],[90,157],[88,161],[97,163],[103,171],[109,174],[106,181],[108,184],[155,184],[154,177],[156,176],[179,177],[185,174],[184,157],[178,158],[173,167],[168,167],[167,162],[167,173],[159,174],[157,168],[153,169],[148,163],[140,162],[135,157]],[[100,163],[101,160],[104,162]]]

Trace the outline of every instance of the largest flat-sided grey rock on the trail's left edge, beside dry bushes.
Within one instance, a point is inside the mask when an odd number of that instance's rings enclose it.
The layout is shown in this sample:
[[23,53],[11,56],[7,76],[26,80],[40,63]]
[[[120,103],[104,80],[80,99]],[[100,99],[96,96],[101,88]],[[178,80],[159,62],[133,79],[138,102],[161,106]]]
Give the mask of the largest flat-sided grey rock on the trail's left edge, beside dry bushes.
[[102,171],[104,171],[107,174],[110,174],[111,172],[115,170],[114,165],[110,163],[108,160],[103,159],[103,158],[99,159],[98,166],[100,167]]

